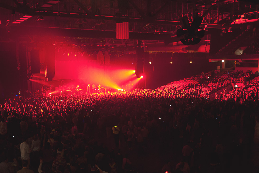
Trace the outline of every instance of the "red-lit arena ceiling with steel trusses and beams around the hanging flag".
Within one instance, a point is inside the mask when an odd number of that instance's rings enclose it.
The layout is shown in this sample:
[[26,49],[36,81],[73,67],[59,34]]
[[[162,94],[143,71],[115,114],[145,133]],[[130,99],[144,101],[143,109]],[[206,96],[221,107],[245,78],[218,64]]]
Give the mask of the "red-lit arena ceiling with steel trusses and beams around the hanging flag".
[[[1,40],[43,41],[62,45],[110,45],[134,48],[135,40],[147,44],[178,45],[180,19],[203,17],[206,35],[221,32],[247,14],[257,19],[257,1],[235,0],[0,0]],[[248,14],[248,12],[253,12]],[[16,22],[21,17],[28,18]],[[31,17],[30,17],[31,16]],[[116,39],[116,22],[129,22],[129,39]],[[171,43],[171,44],[169,44]],[[169,49],[171,50],[171,49]]]

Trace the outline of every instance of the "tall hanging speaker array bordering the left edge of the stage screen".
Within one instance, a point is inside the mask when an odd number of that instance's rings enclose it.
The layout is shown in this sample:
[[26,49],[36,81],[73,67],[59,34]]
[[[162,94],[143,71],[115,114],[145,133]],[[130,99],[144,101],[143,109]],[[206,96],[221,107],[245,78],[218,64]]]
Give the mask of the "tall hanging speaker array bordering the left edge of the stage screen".
[[55,47],[49,46],[45,50],[45,77],[54,78],[55,77]]

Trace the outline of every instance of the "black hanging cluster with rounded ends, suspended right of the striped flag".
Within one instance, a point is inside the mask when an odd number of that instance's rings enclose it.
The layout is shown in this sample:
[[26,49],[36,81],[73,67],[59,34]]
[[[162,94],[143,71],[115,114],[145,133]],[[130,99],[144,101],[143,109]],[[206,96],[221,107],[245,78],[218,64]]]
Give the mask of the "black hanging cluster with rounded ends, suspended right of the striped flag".
[[187,16],[181,18],[182,28],[177,30],[176,35],[184,45],[198,44],[204,37],[204,28],[200,27],[202,19],[202,17],[196,15],[192,24],[190,24]]

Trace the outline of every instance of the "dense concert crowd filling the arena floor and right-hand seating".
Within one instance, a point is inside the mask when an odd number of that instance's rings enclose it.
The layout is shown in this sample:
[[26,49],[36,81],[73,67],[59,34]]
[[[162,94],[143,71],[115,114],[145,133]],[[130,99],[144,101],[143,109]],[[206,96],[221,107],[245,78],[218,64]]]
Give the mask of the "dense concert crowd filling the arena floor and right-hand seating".
[[[0,173],[150,172],[150,164],[159,173],[232,172],[250,159],[259,80],[217,73],[155,90],[10,98],[0,106]],[[246,82],[227,92],[226,75]],[[138,160],[149,157],[161,163]]]

